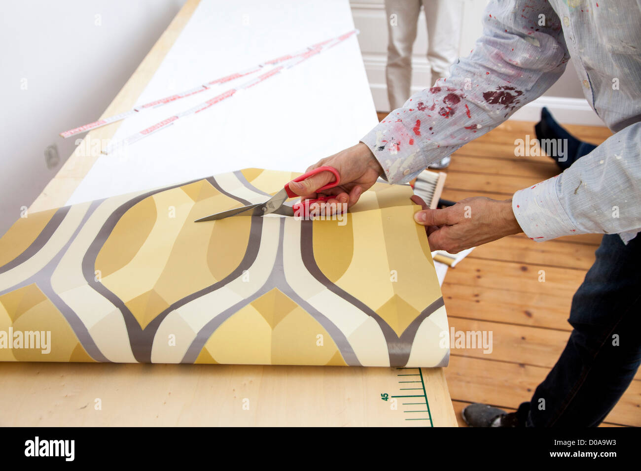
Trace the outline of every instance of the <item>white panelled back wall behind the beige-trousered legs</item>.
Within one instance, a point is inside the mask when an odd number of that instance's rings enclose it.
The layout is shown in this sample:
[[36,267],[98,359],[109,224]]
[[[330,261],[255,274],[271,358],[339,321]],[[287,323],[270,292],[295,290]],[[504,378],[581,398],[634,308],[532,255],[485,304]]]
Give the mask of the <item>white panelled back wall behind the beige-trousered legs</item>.
[[[460,56],[465,57],[474,42],[483,32],[481,18],[488,0],[462,1],[462,37],[459,49]],[[387,15],[384,0],[350,0],[354,24],[360,29],[358,41],[365,61],[365,69],[376,109],[390,111],[385,84],[385,63],[387,61]],[[412,93],[433,85],[429,77],[426,59],[427,31],[424,13],[420,12],[419,30],[413,48],[412,58]],[[512,119],[538,120],[540,108],[551,108],[558,119],[572,124],[603,125],[596,113],[583,97],[583,90],[570,61],[565,73],[543,97],[526,105],[512,116]]]

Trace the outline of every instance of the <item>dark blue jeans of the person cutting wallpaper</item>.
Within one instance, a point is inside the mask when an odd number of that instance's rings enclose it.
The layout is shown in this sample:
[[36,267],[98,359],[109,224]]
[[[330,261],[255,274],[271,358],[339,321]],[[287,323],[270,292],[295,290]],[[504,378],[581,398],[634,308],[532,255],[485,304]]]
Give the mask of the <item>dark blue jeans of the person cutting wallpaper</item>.
[[628,245],[603,236],[569,322],[565,350],[519,406],[522,425],[598,426],[628,388],[641,363],[641,235]]

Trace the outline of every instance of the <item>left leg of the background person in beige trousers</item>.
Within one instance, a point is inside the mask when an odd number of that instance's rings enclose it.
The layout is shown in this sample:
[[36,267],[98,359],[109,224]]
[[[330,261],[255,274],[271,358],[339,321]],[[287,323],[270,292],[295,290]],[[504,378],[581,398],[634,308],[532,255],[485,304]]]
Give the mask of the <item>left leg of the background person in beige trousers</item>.
[[387,97],[390,110],[401,108],[410,98],[412,45],[420,12],[420,0],[385,0],[387,12]]

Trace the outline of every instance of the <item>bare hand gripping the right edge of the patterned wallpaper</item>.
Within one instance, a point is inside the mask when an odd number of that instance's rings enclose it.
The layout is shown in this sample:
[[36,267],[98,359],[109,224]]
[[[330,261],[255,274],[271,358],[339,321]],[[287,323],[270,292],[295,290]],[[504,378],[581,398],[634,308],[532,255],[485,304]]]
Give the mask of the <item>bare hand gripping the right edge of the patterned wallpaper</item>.
[[429,249],[451,254],[523,232],[514,217],[512,199],[466,198],[443,210],[424,207],[414,220],[426,226]]

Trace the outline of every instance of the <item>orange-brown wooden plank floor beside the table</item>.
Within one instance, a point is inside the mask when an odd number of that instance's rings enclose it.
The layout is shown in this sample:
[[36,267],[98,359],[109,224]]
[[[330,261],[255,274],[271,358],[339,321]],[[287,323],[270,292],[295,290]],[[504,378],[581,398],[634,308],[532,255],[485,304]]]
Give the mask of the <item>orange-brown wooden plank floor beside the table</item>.
[[[385,114],[379,114],[381,119]],[[516,157],[514,140],[534,123],[508,121],[452,156],[442,197],[458,201],[482,195],[507,199],[558,173],[547,156]],[[607,128],[566,126],[578,138],[599,144]],[[553,367],[570,334],[567,322],[576,288],[594,261],[600,235],[532,242],[515,235],[477,247],[445,276],[443,295],[450,327],[492,331],[494,351],[453,349],[445,377],[460,426],[471,402],[510,409],[528,401]],[[545,270],[545,282],[538,281]],[[641,374],[629,386],[604,426],[641,426]]]

